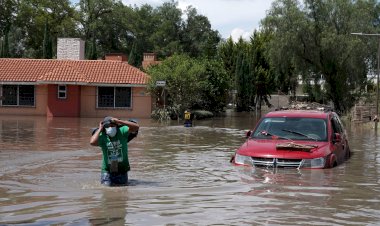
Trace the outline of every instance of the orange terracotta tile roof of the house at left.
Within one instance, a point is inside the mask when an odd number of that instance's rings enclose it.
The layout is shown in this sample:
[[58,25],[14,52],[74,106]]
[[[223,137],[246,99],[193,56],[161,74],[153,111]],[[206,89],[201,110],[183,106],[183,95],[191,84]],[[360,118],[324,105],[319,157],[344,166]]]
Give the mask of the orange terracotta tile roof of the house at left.
[[0,83],[146,85],[148,75],[121,61],[0,58]]

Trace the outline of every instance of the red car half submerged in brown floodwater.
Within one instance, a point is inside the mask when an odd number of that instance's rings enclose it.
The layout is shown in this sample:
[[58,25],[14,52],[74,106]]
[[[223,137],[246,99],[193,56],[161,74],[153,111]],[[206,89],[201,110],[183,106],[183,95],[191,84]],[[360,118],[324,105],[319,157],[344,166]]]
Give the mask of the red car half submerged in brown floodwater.
[[236,165],[331,168],[350,157],[347,134],[332,111],[282,110],[266,114],[235,152]]

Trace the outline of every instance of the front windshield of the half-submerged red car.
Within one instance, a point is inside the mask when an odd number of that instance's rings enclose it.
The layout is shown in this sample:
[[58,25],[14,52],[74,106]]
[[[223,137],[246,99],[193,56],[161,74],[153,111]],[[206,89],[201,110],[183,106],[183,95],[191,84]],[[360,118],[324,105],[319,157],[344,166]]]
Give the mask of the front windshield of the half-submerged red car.
[[264,118],[253,132],[253,138],[288,140],[327,140],[326,120],[318,118]]

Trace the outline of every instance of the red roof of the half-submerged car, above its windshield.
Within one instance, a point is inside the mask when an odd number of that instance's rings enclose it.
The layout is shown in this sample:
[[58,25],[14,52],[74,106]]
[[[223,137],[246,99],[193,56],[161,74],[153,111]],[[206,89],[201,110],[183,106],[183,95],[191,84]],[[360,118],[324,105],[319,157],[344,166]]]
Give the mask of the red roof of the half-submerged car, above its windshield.
[[328,115],[331,114],[330,111],[318,111],[318,110],[281,110],[281,111],[272,111],[265,115],[266,118],[272,117],[304,117],[304,118],[321,118],[325,119]]

